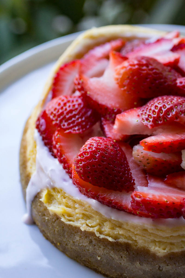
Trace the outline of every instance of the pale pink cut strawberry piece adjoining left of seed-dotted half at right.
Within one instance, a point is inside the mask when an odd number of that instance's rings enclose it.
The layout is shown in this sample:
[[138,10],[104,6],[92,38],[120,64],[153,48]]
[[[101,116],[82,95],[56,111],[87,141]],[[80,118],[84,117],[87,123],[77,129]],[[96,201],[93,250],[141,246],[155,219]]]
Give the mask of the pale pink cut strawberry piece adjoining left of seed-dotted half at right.
[[151,135],[155,129],[151,130],[139,120],[140,107],[129,109],[116,115],[114,131],[120,134],[147,134]]

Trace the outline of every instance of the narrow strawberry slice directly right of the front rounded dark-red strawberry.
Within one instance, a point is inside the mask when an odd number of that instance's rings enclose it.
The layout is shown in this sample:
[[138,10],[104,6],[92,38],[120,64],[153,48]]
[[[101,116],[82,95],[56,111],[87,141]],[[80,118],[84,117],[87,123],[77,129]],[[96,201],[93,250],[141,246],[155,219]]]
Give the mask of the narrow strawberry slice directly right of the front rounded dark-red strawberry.
[[137,189],[138,186],[148,186],[148,181],[146,179],[144,171],[138,166],[138,164],[132,157],[132,148],[130,147],[130,145],[123,142],[120,142],[119,145],[121,146],[121,149],[124,151],[127,161],[129,162],[130,171],[135,180],[135,189]]

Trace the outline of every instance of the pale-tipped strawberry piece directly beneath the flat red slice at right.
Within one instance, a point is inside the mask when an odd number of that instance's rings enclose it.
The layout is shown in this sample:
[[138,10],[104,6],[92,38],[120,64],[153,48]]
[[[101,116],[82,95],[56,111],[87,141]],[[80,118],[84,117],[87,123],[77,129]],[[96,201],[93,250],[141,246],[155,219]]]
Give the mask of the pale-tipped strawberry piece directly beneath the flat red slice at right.
[[133,148],[132,155],[138,165],[152,175],[166,176],[182,170],[180,166],[182,163],[181,152],[156,154],[143,150],[141,145],[136,145]]

